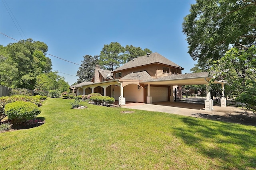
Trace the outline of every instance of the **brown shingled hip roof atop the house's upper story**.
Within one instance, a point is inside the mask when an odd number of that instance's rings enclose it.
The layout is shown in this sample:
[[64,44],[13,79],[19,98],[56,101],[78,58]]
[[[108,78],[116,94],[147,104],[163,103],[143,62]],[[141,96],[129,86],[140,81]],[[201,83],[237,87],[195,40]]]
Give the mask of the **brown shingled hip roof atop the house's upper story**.
[[170,66],[173,66],[173,67],[180,68],[180,69],[184,70],[184,68],[182,68],[178,64],[173,63],[169,59],[166,59],[164,56],[162,56],[158,53],[152,53],[149,56],[144,55],[144,56],[135,58],[134,60],[129,61],[126,64],[116,68],[112,72],[125,70],[125,69],[128,69],[128,68],[134,68],[134,67],[138,67],[138,66],[144,66],[144,65],[148,65],[148,64],[154,64],[154,63],[166,64],[166,65],[170,65]]

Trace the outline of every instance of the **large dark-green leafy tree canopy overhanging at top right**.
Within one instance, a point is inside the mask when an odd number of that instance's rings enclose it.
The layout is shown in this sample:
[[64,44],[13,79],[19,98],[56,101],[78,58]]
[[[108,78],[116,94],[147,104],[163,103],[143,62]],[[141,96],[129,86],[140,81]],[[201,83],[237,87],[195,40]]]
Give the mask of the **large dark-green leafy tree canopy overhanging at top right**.
[[201,67],[208,67],[230,47],[256,45],[255,16],[255,0],[196,0],[182,24],[188,53]]

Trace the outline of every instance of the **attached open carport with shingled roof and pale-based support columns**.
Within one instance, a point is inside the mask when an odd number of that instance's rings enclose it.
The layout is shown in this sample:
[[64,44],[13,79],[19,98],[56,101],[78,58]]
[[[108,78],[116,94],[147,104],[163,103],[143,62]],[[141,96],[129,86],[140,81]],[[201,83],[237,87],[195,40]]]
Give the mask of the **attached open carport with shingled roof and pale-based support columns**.
[[[147,85],[147,104],[152,104],[152,95],[151,90],[152,87],[158,86],[169,86],[170,91],[173,91],[173,86],[183,86],[183,85],[199,85],[205,84],[206,85],[206,100],[204,100],[205,109],[208,111],[213,110],[213,101],[211,99],[211,94],[209,91],[209,81],[211,77],[209,76],[208,72],[197,72],[197,73],[189,73],[189,74],[175,74],[170,76],[164,76],[160,78],[156,78],[154,80],[144,81],[141,82]],[[222,84],[222,96],[224,96],[224,82],[216,81],[214,83]],[[154,90],[156,91],[156,90]],[[159,91],[159,94],[162,94],[163,91]],[[174,102],[174,96],[170,93],[170,102]],[[165,94],[166,95],[166,94]],[[221,99],[221,107],[226,107],[226,98],[222,97]]]

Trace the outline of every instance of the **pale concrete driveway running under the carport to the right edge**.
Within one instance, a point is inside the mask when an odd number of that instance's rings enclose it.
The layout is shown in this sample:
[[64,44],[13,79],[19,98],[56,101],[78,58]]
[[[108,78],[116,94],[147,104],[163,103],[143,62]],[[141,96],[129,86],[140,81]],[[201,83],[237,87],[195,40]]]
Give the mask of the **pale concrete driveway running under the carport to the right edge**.
[[256,115],[251,111],[237,107],[213,106],[213,111],[204,110],[204,104],[190,104],[182,102],[154,102],[152,104],[127,103],[123,108],[159,111],[184,116],[200,117],[206,119],[231,121],[246,125],[256,125]]

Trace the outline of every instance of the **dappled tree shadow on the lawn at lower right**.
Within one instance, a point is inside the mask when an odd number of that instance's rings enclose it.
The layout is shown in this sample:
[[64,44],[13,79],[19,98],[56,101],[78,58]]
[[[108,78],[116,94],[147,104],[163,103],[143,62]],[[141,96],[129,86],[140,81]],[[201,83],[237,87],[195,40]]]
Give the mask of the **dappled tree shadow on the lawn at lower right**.
[[176,135],[196,152],[220,162],[223,169],[256,168],[256,129],[221,121],[202,121],[184,117],[186,124],[176,128]]

